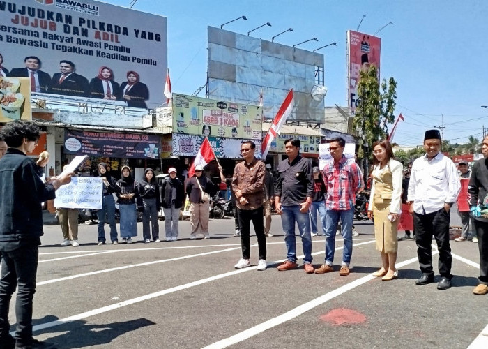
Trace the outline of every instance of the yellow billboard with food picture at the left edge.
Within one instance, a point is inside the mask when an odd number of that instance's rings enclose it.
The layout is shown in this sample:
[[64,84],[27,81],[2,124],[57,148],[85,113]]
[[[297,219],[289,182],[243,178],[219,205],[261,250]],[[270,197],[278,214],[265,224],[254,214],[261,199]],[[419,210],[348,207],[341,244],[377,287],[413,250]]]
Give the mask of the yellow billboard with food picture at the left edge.
[[29,79],[0,75],[0,105],[0,122],[31,120]]

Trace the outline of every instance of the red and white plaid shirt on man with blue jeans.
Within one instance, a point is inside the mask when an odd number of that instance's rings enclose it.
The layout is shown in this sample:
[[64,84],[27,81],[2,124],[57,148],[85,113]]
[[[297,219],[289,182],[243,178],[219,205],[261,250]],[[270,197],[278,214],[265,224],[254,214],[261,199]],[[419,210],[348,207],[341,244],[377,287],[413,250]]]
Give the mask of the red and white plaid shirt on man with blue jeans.
[[323,168],[323,181],[327,190],[327,209],[351,209],[356,202],[356,193],[364,187],[363,173],[358,164],[344,155],[338,162],[326,163]]

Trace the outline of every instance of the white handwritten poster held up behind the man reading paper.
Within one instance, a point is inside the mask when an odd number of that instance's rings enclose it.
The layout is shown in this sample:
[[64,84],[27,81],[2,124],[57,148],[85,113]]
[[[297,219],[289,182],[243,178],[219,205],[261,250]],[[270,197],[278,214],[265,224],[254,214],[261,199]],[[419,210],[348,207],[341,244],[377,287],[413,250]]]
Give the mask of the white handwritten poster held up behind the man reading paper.
[[63,209],[101,209],[101,177],[71,177],[71,182],[56,191],[54,207]]

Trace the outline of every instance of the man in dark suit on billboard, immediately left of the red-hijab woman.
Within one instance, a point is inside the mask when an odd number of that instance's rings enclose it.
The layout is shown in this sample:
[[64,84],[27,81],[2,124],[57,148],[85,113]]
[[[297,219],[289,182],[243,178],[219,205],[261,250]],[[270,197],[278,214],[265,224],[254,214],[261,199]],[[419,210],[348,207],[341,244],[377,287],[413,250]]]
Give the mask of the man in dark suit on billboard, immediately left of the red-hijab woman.
[[52,77],[49,93],[66,96],[88,96],[88,79],[75,73],[76,66],[72,61],[63,59],[59,62],[59,70]]

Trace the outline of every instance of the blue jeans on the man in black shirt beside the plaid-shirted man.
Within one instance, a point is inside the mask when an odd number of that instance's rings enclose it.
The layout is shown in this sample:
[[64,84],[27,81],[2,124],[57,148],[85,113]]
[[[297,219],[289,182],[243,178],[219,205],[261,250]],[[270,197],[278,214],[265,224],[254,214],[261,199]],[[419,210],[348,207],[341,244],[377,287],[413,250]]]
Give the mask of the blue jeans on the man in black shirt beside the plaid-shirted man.
[[300,205],[282,206],[281,223],[284,230],[284,244],[287,245],[287,260],[296,262],[295,222],[302,238],[303,264],[312,262],[312,237],[310,237],[310,216],[300,212]]

